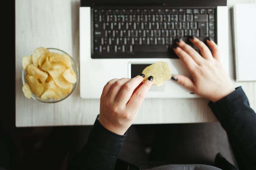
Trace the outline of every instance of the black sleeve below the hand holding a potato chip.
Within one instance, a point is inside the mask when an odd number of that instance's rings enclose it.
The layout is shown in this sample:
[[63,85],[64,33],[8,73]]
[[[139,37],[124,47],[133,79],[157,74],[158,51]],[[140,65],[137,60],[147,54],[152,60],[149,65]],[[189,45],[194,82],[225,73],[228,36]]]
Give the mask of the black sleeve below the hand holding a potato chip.
[[99,123],[98,116],[87,143],[76,160],[76,170],[114,169],[117,154],[121,151],[127,132],[124,135],[110,132]]

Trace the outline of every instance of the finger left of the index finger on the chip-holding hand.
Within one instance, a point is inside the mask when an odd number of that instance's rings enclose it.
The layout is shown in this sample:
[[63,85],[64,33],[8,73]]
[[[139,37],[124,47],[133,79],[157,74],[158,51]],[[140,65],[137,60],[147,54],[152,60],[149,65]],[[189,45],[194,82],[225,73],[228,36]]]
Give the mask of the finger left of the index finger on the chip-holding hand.
[[140,75],[136,76],[136,77],[133,77],[126,84],[124,84],[122,89],[120,90],[120,93],[118,94],[116,100],[120,101],[121,103],[125,103],[125,105],[126,105],[128,103],[128,101],[130,100],[134,90],[144,80],[144,77],[142,77]]

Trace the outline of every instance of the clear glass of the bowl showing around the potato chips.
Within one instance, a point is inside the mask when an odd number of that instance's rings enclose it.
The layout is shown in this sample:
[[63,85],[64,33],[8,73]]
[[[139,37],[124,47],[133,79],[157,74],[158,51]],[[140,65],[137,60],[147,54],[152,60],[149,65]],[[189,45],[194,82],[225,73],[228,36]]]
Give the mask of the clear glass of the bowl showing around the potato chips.
[[[42,100],[41,97],[37,97],[35,96],[35,94],[33,93],[31,98],[33,98],[34,100],[37,100],[37,101],[41,101],[41,102],[44,102],[44,103],[56,103],[56,102],[59,102],[59,101],[62,101],[64,100],[65,98],[67,98],[70,94],[72,94],[72,92],[74,91],[75,87],[76,87],[76,84],[78,83],[78,78],[79,78],[79,72],[78,72],[78,67],[74,61],[74,59],[71,57],[71,55],[69,55],[68,53],[66,53],[65,51],[63,50],[60,50],[60,49],[56,49],[56,48],[47,48],[50,52],[52,53],[59,53],[59,54],[67,54],[70,58],[71,58],[71,67],[74,71],[74,73],[76,74],[76,82],[74,84],[72,84],[72,89],[71,89],[71,92],[66,94],[64,97],[62,98],[59,98],[59,99],[54,99],[54,98],[50,98],[50,99],[47,99],[47,100]],[[24,85],[26,83],[26,77],[27,75],[27,72],[26,70],[22,69],[22,84]]]

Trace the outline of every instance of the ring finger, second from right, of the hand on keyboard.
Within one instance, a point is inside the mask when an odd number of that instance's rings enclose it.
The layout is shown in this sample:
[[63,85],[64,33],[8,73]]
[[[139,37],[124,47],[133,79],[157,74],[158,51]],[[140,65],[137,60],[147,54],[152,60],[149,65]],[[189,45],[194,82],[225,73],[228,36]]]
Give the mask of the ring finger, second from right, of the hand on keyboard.
[[190,41],[197,47],[197,49],[200,50],[200,53],[202,54],[203,58],[205,58],[205,59],[211,59],[212,58],[211,51],[205,45],[205,43],[203,43],[202,41],[200,41],[196,37],[194,37],[193,39],[190,39]]

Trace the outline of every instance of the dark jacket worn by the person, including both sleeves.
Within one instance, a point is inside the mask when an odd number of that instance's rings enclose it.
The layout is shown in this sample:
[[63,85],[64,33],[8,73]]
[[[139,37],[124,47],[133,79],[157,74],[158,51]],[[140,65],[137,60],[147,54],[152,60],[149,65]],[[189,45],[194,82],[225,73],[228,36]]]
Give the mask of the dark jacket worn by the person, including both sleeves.
[[[249,105],[242,87],[221,100],[210,102],[214,115],[227,132],[238,167],[231,165],[221,154],[216,155],[215,167],[207,165],[165,165],[160,169],[223,169],[256,170],[256,114]],[[95,120],[89,139],[76,160],[78,170],[113,170],[121,151],[125,135],[106,130]]]

